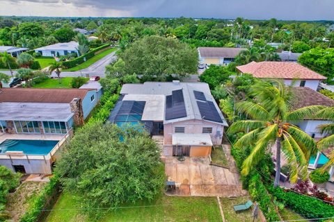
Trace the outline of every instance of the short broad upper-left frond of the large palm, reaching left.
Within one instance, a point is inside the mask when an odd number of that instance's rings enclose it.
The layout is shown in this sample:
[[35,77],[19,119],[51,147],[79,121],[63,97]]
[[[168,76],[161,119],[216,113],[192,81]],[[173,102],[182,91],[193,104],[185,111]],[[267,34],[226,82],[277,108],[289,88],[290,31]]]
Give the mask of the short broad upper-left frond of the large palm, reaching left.
[[236,104],[236,108],[252,119],[267,120],[269,118],[269,112],[256,103],[241,101]]

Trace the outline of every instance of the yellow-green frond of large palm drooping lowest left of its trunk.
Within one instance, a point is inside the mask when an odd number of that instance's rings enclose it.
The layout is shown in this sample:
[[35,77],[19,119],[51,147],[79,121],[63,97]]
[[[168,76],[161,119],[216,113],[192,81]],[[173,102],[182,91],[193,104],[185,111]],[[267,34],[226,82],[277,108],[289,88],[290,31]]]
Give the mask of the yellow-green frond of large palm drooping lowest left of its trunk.
[[263,157],[264,151],[272,146],[276,141],[276,135],[278,133],[278,125],[273,124],[264,128],[260,133],[258,138],[260,138],[253,148],[253,151],[246,158],[244,163],[242,164],[241,174],[244,176],[248,175],[250,169]]

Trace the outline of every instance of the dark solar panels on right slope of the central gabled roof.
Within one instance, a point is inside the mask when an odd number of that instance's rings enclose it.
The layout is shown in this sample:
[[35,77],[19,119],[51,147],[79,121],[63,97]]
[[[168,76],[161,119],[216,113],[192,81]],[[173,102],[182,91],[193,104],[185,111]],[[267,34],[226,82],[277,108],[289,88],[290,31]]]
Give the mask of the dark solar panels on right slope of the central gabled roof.
[[221,116],[219,115],[218,110],[216,109],[216,106],[212,101],[207,101],[202,92],[193,91],[193,94],[198,100],[197,105],[198,109],[200,110],[200,116],[202,117],[202,119],[223,123],[223,119],[221,119]]

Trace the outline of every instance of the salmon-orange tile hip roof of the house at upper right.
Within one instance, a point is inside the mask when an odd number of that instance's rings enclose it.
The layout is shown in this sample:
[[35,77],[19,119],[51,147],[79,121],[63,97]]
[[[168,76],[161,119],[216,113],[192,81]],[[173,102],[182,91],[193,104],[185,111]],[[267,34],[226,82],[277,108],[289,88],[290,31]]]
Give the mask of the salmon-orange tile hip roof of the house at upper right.
[[241,73],[252,74],[255,78],[326,79],[296,62],[250,62],[237,69]]

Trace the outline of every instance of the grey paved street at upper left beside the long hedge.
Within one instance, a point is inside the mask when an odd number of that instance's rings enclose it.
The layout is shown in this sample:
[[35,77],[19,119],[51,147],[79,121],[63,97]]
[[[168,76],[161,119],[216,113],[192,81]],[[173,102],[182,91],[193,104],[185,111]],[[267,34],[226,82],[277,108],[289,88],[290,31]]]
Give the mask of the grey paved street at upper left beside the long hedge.
[[[81,69],[79,71],[62,71],[61,76],[66,77],[77,77],[77,76],[100,76],[104,77],[104,71],[106,70],[106,65],[109,65],[110,62],[116,60],[115,52],[110,53],[108,56],[104,56],[104,58],[98,60],[97,62],[93,63],[86,69]],[[1,71],[0,72],[7,74],[10,76],[10,71]],[[16,71],[14,71],[15,75]],[[56,76],[55,72],[52,73],[52,76]]]

